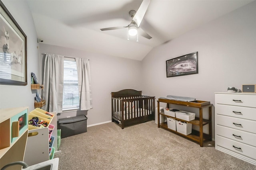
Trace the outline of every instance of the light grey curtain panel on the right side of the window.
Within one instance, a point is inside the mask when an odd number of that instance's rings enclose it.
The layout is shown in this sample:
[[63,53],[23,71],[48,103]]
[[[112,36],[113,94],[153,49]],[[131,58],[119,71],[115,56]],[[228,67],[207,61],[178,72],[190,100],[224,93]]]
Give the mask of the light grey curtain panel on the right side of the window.
[[91,75],[88,59],[76,58],[80,110],[92,109]]

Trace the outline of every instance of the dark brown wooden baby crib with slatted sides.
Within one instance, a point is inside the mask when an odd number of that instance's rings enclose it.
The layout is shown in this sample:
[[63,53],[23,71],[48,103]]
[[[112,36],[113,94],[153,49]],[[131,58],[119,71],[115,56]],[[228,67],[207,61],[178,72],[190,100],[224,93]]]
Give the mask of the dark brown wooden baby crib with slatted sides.
[[142,91],[124,89],[112,92],[112,122],[124,127],[155,119],[155,97]]

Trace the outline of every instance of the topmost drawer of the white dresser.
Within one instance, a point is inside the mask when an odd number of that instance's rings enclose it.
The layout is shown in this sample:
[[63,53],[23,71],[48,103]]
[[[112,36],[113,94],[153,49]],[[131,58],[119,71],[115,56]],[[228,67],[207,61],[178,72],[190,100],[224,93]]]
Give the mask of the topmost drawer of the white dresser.
[[256,107],[256,95],[242,93],[216,94],[215,103],[234,106]]

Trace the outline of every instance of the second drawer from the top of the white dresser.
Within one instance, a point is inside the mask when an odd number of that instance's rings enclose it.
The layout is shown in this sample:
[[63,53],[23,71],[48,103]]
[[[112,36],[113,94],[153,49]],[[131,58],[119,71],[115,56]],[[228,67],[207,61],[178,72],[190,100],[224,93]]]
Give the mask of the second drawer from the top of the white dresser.
[[215,107],[215,113],[219,115],[227,115],[243,119],[256,120],[256,108],[252,107],[217,104],[217,106]]

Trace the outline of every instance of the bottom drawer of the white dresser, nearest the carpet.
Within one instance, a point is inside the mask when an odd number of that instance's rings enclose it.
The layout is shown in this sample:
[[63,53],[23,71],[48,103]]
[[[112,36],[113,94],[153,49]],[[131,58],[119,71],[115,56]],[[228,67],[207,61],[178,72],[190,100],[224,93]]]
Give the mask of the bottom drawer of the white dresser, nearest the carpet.
[[226,149],[229,149],[234,152],[248,156],[250,158],[256,159],[256,147],[252,147],[250,145],[246,145],[244,143],[240,143],[238,141],[234,141],[234,140],[231,140],[231,139],[228,139],[225,137],[221,137],[218,135],[216,135],[215,145],[219,145]]

